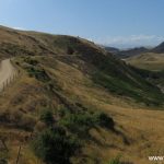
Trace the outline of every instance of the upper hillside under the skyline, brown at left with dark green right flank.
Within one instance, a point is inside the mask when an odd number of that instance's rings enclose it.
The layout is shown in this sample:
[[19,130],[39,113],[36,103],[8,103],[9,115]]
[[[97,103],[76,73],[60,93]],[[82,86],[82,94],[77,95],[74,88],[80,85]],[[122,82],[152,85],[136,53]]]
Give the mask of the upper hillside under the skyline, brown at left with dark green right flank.
[[73,62],[77,65],[75,59],[78,59],[83,62],[80,69],[85,70],[95,83],[109,92],[150,105],[163,102],[163,95],[157,87],[152,86],[122,61],[91,42],[71,36],[17,32],[8,28],[1,28],[1,34],[2,56],[66,56],[70,65]]

